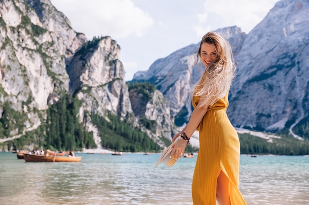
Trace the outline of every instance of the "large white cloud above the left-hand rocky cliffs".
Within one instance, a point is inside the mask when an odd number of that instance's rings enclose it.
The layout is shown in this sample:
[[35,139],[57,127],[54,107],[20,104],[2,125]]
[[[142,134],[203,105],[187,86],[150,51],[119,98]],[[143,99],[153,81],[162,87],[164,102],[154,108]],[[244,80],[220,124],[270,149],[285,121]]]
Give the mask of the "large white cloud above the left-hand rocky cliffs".
[[73,29],[94,36],[141,37],[153,26],[152,17],[132,0],[51,0],[70,19]]

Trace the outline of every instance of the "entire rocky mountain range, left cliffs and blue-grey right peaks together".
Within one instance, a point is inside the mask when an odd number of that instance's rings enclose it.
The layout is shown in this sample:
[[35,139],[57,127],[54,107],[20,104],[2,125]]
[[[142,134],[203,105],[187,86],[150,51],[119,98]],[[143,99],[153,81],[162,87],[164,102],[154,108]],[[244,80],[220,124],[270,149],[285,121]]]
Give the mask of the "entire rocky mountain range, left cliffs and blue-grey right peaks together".
[[[35,146],[32,135],[44,132],[50,107],[65,106],[59,103],[64,93],[77,96],[80,126],[98,148],[102,133],[93,116],[109,121],[113,114],[160,146],[178,129],[175,116],[188,120],[189,92],[204,69],[195,64],[199,43],[156,60],[126,84],[120,47],[111,37],[88,40],[49,0],[0,3],[0,143],[32,131],[29,146]],[[308,0],[281,0],[248,34],[237,27],[217,30],[232,44],[237,61],[228,109],[234,126],[275,132],[308,118],[308,11]]]

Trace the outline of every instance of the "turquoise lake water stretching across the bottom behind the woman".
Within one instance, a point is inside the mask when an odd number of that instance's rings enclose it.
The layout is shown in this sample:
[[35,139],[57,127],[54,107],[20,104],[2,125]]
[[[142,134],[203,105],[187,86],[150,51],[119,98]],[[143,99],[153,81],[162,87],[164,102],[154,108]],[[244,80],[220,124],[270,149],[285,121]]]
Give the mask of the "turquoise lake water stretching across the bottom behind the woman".
[[[193,205],[196,156],[154,168],[159,154],[77,155],[46,163],[0,152],[0,205]],[[241,155],[239,189],[248,205],[309,205],[309,157]]]

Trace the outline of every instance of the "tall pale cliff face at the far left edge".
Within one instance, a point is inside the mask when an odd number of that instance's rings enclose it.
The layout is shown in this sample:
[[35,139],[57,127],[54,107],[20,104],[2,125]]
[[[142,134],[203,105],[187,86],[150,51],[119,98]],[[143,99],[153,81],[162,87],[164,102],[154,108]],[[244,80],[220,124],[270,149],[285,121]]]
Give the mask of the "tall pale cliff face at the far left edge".
[[[48,0],[3,0],[0,15],[0,103],[9,102],[25,128],[35,129],[40,124],[36,110],[47,109],[61,90],[68,90],[65,59],[86,37],[71,29]],[[12,134],[20,132],[16,127]]]

